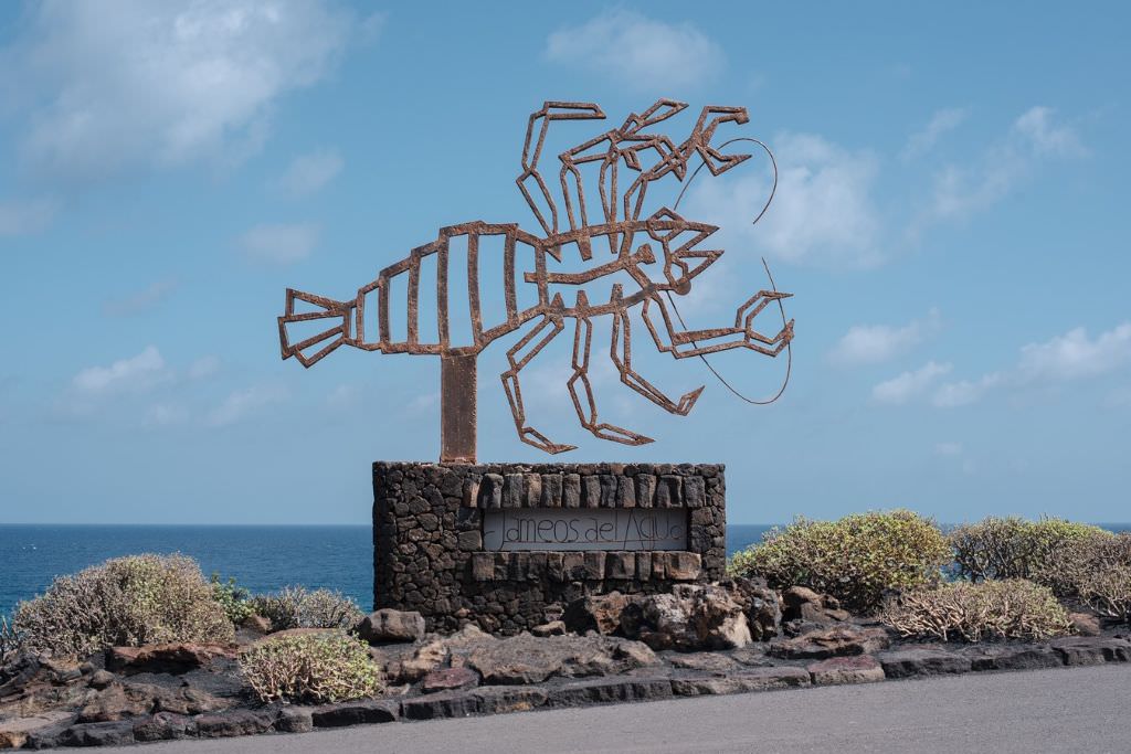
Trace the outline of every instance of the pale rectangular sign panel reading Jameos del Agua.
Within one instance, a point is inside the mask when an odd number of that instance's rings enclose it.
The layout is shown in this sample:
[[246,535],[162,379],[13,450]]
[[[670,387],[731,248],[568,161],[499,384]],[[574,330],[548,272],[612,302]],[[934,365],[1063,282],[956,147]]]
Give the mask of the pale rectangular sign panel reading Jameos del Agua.
[[515,509],[484,511],[491,551],[687,549],[688,514],[679,509]]

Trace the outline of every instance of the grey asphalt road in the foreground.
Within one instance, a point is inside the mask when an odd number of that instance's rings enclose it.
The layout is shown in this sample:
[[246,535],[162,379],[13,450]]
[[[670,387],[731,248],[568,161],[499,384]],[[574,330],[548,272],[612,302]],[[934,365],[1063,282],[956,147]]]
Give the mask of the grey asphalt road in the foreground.
[[[977,674],[118,748],[262,752],[1131,752],[1131,667]],[[106,751],[106,749],[103,749]]]

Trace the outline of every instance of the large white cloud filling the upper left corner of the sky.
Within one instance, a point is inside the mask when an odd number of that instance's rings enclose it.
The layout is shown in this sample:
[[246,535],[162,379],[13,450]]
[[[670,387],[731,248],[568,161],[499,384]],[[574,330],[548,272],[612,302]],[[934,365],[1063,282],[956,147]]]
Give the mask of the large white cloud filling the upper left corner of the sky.
[[28,166],[72,181],[254,151],[275,103],[334,68],[354,20],[321,0],[32,8],[0,89],[29,113]]

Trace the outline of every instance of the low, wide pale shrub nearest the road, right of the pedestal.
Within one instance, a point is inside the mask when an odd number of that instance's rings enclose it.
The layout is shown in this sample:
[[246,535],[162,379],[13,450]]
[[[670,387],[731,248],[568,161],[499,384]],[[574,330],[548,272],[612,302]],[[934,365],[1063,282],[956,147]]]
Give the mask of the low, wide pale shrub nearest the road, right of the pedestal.
[[1052,590],[1025,579],[957,581],[889,598],[880,621],[905,636],[942,641],[1042,640],[1071,633]]

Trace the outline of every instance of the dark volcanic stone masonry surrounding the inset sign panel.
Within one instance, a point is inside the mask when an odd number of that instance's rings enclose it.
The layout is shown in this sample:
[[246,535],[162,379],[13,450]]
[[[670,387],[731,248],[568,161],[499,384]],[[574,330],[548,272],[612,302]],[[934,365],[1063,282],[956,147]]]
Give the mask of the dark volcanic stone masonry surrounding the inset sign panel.
[[[653,553],[483,551],[489,511],[650,508],[661,483],[659,504],[687,513],[683,551],[655,558]],[[470,622],[513,635],[559,618],[562,607],[585,595],[657,593],[680,580],[725,575],[720,466],[379,461],[373,492],[374,607],[420,613],[428,631],[455,632]],[[772,632],[774,615],[772,605],[751,606],[759,634],[763,624],[765,633]],[[601,631],[616,630],[613,610],[602,622]]]

